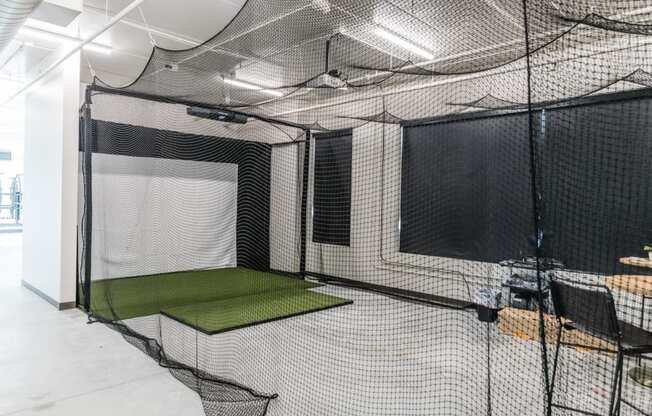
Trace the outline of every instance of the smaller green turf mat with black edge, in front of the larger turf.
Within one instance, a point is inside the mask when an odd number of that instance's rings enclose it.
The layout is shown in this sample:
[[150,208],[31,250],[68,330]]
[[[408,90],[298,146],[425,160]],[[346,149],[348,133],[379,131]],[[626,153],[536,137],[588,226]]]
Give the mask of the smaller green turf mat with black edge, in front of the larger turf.
[[350,300],[287,288],[212,302],[163,308],[161,313],[209,335],[348,305]]

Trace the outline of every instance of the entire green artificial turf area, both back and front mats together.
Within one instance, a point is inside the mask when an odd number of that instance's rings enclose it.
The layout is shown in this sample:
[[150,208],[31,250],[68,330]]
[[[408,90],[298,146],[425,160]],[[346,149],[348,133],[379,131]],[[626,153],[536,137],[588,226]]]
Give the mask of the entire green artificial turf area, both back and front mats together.
[[111,321],[163,313],[214,334],[351,303],[307,290],[318,286],[245,268],[96,280],[91,310]]

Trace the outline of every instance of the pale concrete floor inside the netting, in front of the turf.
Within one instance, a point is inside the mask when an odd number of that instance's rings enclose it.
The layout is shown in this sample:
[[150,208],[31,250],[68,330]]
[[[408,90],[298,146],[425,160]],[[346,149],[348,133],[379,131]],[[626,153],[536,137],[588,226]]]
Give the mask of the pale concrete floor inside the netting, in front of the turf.
[[[486,415],[489,337],[491,414],[545,414],[538,342],[487,327],[474,312],[334,286],[315,290],[354,303],[217,335],[160,316],[125,323],[158,339],[173,360],[278,394],[268,416]],[[612,354],[564,348],[555,402],[606,414],[614,363]],[[652,391],[629,378],[623,395],[652,410]],[[629,407],[621,414],[640,415]]]

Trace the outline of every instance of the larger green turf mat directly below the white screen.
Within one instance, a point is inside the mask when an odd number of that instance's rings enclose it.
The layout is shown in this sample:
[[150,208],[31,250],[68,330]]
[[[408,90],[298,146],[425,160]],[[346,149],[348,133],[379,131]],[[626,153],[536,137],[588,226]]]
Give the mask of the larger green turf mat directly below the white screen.
[[121,320],[157,314],[164,308],[317,286],[240,267],[96,280],[91,285],[91,311],[100,318]]

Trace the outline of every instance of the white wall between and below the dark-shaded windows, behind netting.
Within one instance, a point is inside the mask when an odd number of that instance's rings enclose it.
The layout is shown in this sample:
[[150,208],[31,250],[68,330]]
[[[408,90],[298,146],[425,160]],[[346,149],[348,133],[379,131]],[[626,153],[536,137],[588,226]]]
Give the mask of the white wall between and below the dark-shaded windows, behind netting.
[[[314,146],[311,146],[312,160]],[[311,163],[308,272],[456,299],[468,299],[469,287],[487,284],[500,276],[500,268],[491,263],[399,251],[401,132],[398,125],[369,123],[353,129],[352,160],[348,247],[312,241],[314,163]]]

